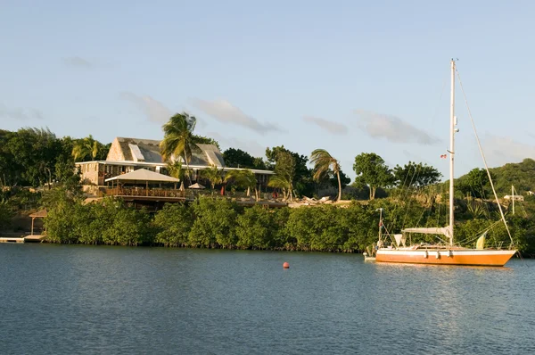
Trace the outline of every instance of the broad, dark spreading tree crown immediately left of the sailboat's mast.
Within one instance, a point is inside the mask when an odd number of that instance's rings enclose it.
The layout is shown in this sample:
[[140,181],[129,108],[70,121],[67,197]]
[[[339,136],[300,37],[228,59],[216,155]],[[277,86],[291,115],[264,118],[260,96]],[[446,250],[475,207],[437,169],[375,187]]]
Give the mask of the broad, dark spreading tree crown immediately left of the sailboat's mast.
[[393,173],[396,185],[400,187],[424,187],[438,183],[442,177],[439,170],[432,166],[413,161],[403,167],[396,165]]

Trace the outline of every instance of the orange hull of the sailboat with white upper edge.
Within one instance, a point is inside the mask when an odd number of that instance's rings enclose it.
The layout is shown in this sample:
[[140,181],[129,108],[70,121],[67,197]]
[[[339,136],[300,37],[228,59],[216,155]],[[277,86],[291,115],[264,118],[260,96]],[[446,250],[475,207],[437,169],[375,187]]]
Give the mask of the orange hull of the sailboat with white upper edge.
[[379,249],[375,255],[377,262],[398,262],[430,265],[470,265],[503,267],[516,251],[509,250],[399,250]]

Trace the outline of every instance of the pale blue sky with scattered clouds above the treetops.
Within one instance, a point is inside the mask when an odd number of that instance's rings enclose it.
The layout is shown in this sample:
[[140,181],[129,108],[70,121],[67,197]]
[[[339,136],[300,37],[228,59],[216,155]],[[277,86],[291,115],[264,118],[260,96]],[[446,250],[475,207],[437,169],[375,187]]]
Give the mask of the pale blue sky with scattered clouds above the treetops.
[[[222,150],[323,148],[449,175],[458,58],[490,167],[535,158],[535,2],[0,0],[0,128],[161,139],[175,112]],[[482,167],[457,83],[456,177]]]

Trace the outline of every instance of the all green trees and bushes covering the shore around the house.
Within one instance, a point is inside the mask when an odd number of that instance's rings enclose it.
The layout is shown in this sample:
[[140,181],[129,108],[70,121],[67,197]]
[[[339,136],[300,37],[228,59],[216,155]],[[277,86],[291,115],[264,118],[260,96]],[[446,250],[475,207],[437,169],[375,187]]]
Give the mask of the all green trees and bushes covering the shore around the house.
[[[185,113],[177,114],[164,126],[166,139],[162,150],[173,176],[183,178],[186,169],[182,162],[171,161],[171,155],[184,157],[187,165],[194,144],[217,143],[208,137],[194,136],[194,126],[194,117]],[[103,159],[108,149],[109,144],[101,144],[92,136],[57,138],[45,128],[0,130],[0,230],[17,230],[17,216],[46,208],[47,241],[51,243],[352,252],[361,251],[376,240],[377,208],[384,209],[386,227],[391,233],[407,226],[448,224],[448,194],[444,188],[447,183],[438,183],[440,173],[436,169],[412,161],[390,169],[375,153],[359,154],[353,166],[358,174],[355,185],[361,187],[359,191],[364,191],[370,201],[351,202],[345,208],[320,205],[267,210],[258,205],[239,207],[226,198],[200,197],[190,205],[166,205],[149,214],[113,199],[84,204],[74,169],[75,158]],[[350,182],[349,178],[325,150],[311,154],[314,169],[308,168],[308,157],[284,146],[268,148],[267,161],[233,148],[224,154],[241,168],[275,169],[269,186],[280,189],[290,201],[295,194],[312,196],[319,186],[337,187],[339,199],[342,194],[348,196],[347,191],[341,194],[341,190]],[[525,198],[516,205],[516,214],[507,200],[501,202],[515,245],[528,254],[535,253],[535,197],[527,194],[535,186],[534,170],[535,161],[531,159],[491,169],[498,196],[510,194],[514,185]],[[233,188],[254,190],[259,199],[258,182],[249,169],[227,171],[223,178],[220,170],[212,168],[205,170],[203,177],[210,181],[212,190],[226,183]],[[494,227],[489,231],[489,246],[506,243],[505,229],[494,226],[499,219],[498,205],[491,201],[486,172],[473,169],[457,179],[456,184],[456,240],[471,245],[482,231]],[[433,236],[414,238],[431,241]]]

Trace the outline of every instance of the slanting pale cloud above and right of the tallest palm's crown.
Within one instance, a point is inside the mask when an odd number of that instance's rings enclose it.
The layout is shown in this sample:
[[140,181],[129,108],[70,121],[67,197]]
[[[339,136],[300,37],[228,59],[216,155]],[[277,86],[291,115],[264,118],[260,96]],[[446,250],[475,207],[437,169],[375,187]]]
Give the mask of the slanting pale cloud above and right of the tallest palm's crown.
[[223,99],[214,101],[193,99],[192,103],[197,109],[209,114],[211,117],[222,123],[232,123],[244,128],[250,128],[260,134],[281,130],[270,123],[260,123],[259,120],[245,114],[238,107]]

